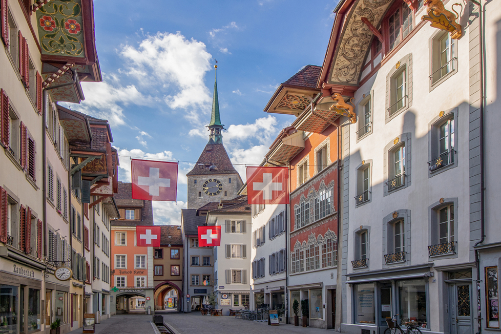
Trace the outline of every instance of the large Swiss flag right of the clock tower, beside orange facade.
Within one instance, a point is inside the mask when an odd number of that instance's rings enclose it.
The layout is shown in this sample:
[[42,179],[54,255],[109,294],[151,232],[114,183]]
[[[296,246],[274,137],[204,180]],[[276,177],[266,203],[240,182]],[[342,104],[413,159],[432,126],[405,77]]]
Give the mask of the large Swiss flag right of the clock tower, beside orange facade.
[[288,204],[289,171],[286,167],[247,167],[249,204]]

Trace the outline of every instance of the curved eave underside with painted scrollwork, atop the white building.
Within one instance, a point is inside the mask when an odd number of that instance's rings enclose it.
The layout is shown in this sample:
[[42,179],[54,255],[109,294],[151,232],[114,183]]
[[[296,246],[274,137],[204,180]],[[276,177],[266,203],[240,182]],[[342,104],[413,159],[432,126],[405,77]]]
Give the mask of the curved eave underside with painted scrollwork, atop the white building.
[[352,7],[342,32],[339,47],[332,59],[330,84],[358,85],[363,62],[373,33],[363,22],[365,17],[374,27],[379,27],[392,0],[358,0]]

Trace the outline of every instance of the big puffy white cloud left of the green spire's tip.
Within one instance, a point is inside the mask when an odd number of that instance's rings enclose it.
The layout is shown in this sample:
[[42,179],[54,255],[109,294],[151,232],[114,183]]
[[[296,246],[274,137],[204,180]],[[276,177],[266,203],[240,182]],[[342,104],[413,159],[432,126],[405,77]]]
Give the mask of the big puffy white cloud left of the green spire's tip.
[[187,110],[187,119],[197,122],[200,111],[210,111],[212,98],[203,77],[211,70],[212,56],[201,41],[186,39],[180,32],[158,32],[137,47],[123,46],[120,55],[129,62],[125,73],[142,86],[167,91],[166,105]]

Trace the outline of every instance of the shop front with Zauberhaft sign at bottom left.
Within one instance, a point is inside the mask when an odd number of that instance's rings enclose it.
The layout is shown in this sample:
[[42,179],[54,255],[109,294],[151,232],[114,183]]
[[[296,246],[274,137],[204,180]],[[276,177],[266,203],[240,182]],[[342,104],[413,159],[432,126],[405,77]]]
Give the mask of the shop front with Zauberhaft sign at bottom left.
[[0,332],[44,330],[40,268],[2,259],[0,269]]

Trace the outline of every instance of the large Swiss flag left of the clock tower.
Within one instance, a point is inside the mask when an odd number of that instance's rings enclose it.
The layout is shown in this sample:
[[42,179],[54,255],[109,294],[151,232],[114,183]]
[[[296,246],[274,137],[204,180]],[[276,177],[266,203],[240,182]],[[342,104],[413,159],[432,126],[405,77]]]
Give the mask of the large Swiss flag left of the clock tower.
[[132,198],[176,201],[177,162],[132,159]]

